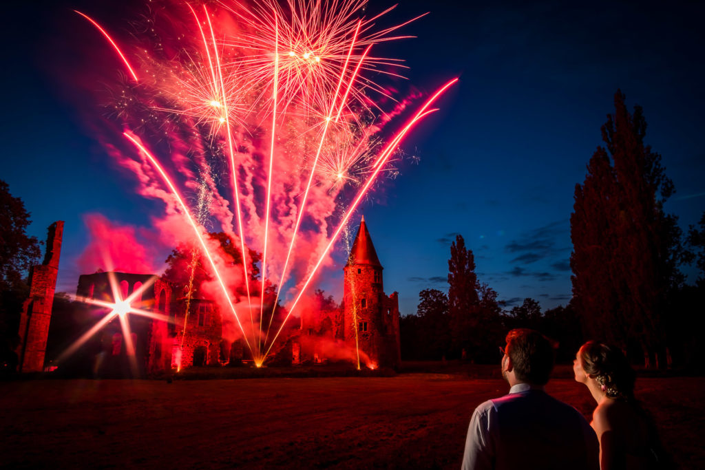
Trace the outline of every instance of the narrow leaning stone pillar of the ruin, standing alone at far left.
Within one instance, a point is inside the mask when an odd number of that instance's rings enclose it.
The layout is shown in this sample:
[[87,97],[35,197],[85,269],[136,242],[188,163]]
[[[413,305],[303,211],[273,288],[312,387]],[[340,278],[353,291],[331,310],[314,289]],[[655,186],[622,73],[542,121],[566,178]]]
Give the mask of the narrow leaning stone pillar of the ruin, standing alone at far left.
[[30,297],[25,300],[20,317],[20,346],[18,364],[20,372],[44,370],[44,353],[51,321],[51,304],[54,303],[56,276],[59,273],[63,221],[49,225],[47,253],[44,262],[30,270]]

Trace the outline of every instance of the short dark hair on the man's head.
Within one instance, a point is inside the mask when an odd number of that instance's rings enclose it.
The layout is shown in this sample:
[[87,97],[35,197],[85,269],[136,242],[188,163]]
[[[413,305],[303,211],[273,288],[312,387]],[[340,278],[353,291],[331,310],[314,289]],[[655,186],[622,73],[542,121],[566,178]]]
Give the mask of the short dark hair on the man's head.
[[553,341],[529,328],[507,333],[506,354],[512,359],[517,378],[526,383],[545,385],[553,370]]

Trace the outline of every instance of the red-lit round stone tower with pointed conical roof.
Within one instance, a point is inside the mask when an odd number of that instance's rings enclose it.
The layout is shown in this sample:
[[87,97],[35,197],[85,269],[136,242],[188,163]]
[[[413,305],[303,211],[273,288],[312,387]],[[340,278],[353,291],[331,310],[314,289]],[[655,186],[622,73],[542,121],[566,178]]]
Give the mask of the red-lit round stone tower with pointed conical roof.
[[348,264],[343,268],[343,336],[350,347],[369,357],[368,366],[400,365],[399,301],[384,294],[382,267],[364,217],[357,230]]

